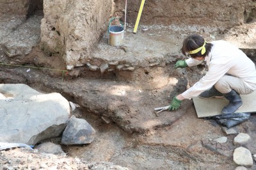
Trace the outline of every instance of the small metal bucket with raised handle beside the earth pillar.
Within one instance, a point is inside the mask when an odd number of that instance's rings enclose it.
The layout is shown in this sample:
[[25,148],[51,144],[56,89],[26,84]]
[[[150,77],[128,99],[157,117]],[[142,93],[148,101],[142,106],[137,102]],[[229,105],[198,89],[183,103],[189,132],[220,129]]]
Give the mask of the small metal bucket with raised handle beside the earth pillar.
[[[116,18],[113,18],[109,22],[109,28],[108,28],[108,43],[109,45],[113,45],[115,47],[118,47],[120,45],[123,45],[124,40],[124,27],[122,24],[120,26],[110,26],[112,20]],[[121,23],[121,21],[120,21]]]

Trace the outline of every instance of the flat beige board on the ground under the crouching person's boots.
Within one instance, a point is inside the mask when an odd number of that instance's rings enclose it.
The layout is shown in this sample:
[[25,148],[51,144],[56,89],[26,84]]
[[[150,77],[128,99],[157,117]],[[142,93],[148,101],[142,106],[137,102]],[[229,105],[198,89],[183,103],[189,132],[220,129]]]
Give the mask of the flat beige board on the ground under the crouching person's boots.
[[[243,105],[236,112],[256,112],[256,91],[248,95],[241,95]],[[202,99],[194,97],[193,102],[198,118],[205,118],[221,114],[221,110],[228,104],[226,98]]]

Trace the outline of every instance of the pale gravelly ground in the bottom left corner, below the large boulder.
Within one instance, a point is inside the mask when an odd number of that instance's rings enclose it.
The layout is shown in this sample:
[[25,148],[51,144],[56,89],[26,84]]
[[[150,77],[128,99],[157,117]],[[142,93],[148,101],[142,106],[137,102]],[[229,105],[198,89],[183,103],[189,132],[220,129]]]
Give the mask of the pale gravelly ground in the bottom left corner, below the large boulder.
[[1,169],[127,169],[111,162],[88,163],[80,158],[38,153],[24,148],[1,151],[0,156]]

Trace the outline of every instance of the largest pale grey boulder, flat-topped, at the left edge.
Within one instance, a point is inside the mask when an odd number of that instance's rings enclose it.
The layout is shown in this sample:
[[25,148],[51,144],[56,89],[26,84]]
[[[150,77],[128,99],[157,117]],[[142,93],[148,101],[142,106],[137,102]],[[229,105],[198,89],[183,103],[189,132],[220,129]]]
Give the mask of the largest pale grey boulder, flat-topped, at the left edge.
[[25,84],[0,84],[0,142],[34,145],[61,135],[70,116],[59,93],[43,94]]

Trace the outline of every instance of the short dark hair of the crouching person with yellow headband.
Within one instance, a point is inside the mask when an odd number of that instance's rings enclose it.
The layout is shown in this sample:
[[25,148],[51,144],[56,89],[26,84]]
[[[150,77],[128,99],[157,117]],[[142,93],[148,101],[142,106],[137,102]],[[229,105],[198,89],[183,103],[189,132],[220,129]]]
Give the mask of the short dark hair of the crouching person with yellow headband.
[[[180,49],[182,54],[186,55],[189,51],[198,49],[204,45],[204,38],[200,35],[189,35],[184,39],[182,48]],[[191,58],[196,57],[205,57],[211,52],[212,43],[205,42],[205,53],[201,54],[201,51],[196,52],[195,54],[189,54]]]

